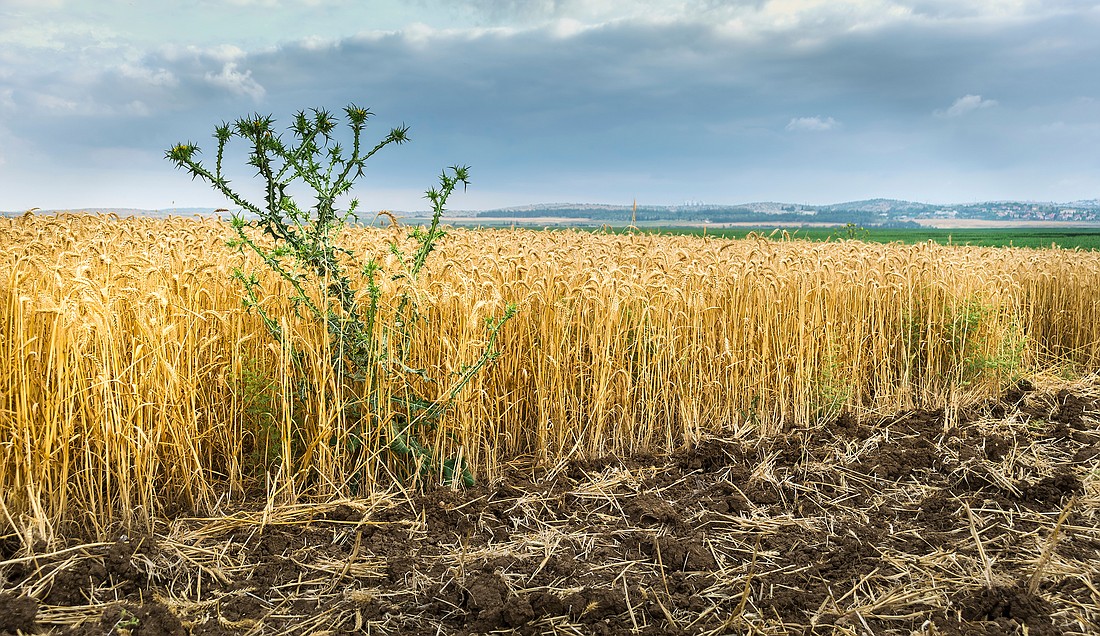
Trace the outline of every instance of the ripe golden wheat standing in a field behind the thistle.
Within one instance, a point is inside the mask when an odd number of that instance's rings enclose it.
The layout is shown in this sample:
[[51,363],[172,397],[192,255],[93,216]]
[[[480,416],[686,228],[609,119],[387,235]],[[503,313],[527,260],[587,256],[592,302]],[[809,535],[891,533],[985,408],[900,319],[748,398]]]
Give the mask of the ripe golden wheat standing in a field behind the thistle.
[[[378,434],[348,442],[362,423],[336,406],[323,330],[231,237],[210,219],[0,219],[7,531],[28,545],[106,536],[257,494],[330,501],[397,481]],[[353,229],[342,242],[392,259],[387,241],[404,237]],[[234,267],[261,277],[311,393],[242,308]],[[473,362],[485,320],[519,307],[499,359],[426,440],[485,481],[517,461],[958,408],[1100,362],[1096,252],[451,230],[426,274],[410,350],[436,377]],[[383,314],[398,284],[384,281]]]

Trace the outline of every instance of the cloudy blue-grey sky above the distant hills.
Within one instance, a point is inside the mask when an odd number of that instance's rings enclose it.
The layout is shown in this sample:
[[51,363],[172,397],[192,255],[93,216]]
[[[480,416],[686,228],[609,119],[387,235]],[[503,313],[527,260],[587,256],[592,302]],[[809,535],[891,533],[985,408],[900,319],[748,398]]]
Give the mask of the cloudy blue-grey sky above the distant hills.
[[0,0],[0,210],[219,206],[165,149],[349,102],[413,140],[367,209],[455,163],[457,209],[1096,198],[1097,34],[1092,0]]

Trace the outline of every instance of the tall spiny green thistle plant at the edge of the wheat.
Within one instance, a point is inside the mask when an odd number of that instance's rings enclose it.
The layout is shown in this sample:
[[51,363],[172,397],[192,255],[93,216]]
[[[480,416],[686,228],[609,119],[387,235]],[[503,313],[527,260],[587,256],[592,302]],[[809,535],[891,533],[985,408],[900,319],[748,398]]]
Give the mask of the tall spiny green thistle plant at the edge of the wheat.
[[[439,177],[439,187],[427,191],[432,218],[427,230],[416,228],[410,233],[417,244],[415,253],[406,254],[397,242],[391,243],[391,251],[403,267],[393,277],[404,279],[405,285],[393,324],[382,326],[384,336],[380,338],[376,322],[383,292],[378,281],[385,273],[376,257],[362,263],[351,250],[337,242],[341,230],[358,220],[359,200],[352,198],[346,209],[340,209],[338,204],[351,193],[355,180],[363,176],[367,160],[387,145],[409,141],[408,128],[403,125],[391,130],[381,142],[366,150],[362,136],[372,113],[354,105],[346,107],[344,113],[351,129],[350,154],[336,139],[339,118],[326,110],[312,109],[309,113],[299,111],[295,116],[289,129],[292,141],[284,141],[275,131],[271,116],[253,114],[217,127],[213,136],[218,140],[218,151],[212,171],[197,158],[200,151],[193,143],[177,144],[165,156],[176,167],[193,178],[208,183],[256,218],[249,221],[243,215],[233,216],[232,228],[237,239],[230,245],[242,253],[252,252],[260,256],[272,272],[289,285],[289,300],[295,314],[324,326],[330,343],[327,351],[329,364],[340,386],[344,387],[344,395],[351,396],[344,399],[341,407],[350,421],[360,423],[350,438],[342,440],[344,448],[358,451],[367,439],[385,439],[384,450],[410,461],[416,467],[414,475],[439,474],[446,481],[461,480],[472,485],[473,476],[461,456],[436,458],[422,439],[436,430],[440,418],[475,374],[499,355],[497,335],[515,315],[516,307],[508,306],[504,316],[486,322],[485,349],[473,364],[463,368],[458,381],[442,396],[427,398],[407,393],[385,396],[383,392],[386,380],[403,375],[417,375],[433,382],[424,370],[407,364],[408,348],[420,318],[411,289],[429,254],[446,235],[440,228],[440,218],[459,185],[463,190],[469,186],[470,168],[452,166],[444,169]],[[256,169],[256,176],[263,184],[263,201],[260,204],[242,196],[223,172],[226,147],[234,139],[243,140],[251,146],[248,164]],[[301,184],[312,190],[315,200],[310,207],[302,207],[288,194],[292,186]],[[272,246],[257,242],[257,231],[270,238]],[[293,352],[299,375],[299,396],[305,397],[308,392],[317,391],[311,386],[309,375],[302,372],[301,357],[283,332],[279,320],[261,304],[263,289],[260,279],[254,273],[240,270],[234,272],[234,277],[243,287],[243,303],[248,310],[255,311],[272,337],[285,350]],[[356,300],[356,292],[361,288],[366,290],[369,297],[365,307]],[[384,405],[383,402],[389,404]],[[397,415],[384,418],[384,406],[397,406]],[[366,427],[374,427],[371,429],[374,431],[383,427],[388,430],[381,436],[372,436]],[[334,441],[330,440],[330,443],[334,445]]]

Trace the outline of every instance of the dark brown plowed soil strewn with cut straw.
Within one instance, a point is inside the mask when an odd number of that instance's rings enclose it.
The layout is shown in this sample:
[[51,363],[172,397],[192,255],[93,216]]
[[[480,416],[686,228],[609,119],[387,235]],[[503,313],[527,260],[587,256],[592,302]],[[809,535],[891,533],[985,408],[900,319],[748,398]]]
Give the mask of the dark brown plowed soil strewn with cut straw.
[[0,634],[1100,634],[1098,390],[9,537]]

